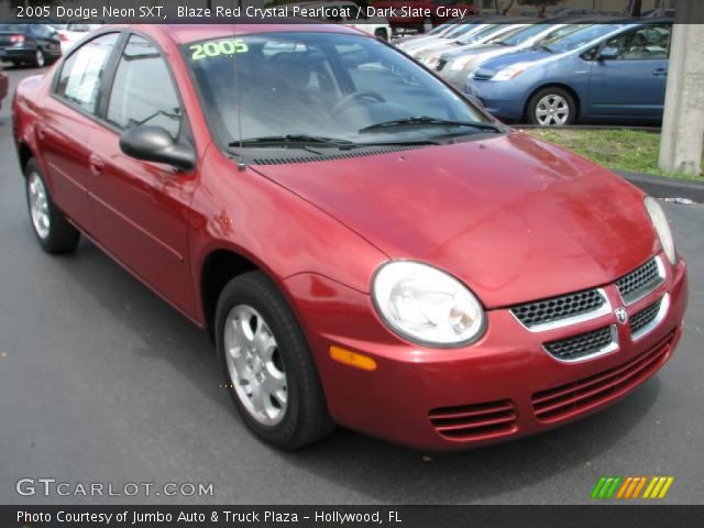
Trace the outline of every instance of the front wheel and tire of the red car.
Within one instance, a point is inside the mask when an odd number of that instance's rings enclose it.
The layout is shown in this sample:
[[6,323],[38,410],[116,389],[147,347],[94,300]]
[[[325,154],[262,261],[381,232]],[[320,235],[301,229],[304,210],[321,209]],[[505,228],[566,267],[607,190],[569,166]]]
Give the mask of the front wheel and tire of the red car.
[[260,439],[294,450],[332,431],[302,330],[283,295],[261,272],[240,275],[223,288],[216,311],[216,345],[226,386]]

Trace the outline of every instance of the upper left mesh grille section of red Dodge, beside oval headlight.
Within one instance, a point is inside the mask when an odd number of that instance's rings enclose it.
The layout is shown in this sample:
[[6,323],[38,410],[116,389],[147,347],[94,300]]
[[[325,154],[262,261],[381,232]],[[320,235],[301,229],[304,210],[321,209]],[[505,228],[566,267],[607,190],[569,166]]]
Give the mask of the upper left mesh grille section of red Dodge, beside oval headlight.
[[598,289],[587,289],[576,294],[514,306],[510,311],[525,327],[535,329],[562,319],[571,319],[596,312],[606,305],[606,298]]

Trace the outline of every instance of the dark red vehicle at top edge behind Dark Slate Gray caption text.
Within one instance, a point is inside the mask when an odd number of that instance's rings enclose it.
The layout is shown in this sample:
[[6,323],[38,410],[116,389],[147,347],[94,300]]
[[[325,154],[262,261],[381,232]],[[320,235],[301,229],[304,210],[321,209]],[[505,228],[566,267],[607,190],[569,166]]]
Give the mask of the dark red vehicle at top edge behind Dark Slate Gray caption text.
[[372,0],[376,9],[391,10],[392,28],[416,28],[424,33],[458,16],[480,14],[479,8],[457,0]]

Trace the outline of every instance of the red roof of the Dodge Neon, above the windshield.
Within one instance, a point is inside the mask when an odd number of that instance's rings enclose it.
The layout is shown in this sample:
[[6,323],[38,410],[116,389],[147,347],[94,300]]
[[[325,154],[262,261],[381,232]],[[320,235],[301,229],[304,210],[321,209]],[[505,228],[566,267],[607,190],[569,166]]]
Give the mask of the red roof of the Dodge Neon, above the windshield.
[[[318,33],[346,33],[360,35],[358,30],[341,24],[317,23],[308,19],[277,19],[284,23],[237,23],[232,24],[134,24],[129,25],[142,32],[162,32],[168,35],[177,44],[186,44],[209,38],[222,38],[232,35],[250,35],[256,33],[284,33],[284,32],[318,32]],[[125,28],[125,26],[118,26]]]

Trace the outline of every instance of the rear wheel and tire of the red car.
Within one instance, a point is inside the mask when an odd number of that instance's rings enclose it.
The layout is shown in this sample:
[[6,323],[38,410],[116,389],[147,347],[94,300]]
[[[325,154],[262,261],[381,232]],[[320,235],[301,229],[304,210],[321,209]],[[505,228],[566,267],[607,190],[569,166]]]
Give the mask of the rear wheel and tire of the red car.
[[35,160],[24,169],[26,205],[34,235],[46,253],[68,253],[76,249],[80,232],[52,201],[48,187]]

